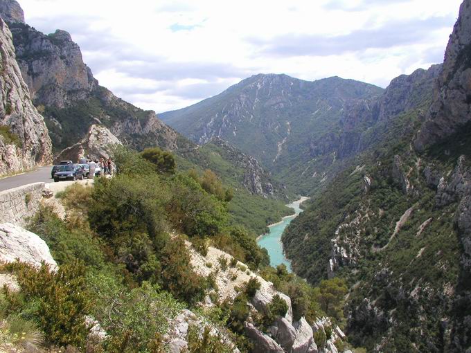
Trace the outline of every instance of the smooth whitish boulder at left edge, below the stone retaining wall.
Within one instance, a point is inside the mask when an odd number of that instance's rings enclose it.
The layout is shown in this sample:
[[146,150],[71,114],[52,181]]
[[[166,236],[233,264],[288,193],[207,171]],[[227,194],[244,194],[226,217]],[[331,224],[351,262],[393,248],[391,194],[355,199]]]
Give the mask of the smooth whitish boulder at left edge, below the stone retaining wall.
[[44,262],[52,270],[57,269],[57,263],[44,240],[20,226],[0,224],[0,262],[16,260],[35,266],[41,266]]

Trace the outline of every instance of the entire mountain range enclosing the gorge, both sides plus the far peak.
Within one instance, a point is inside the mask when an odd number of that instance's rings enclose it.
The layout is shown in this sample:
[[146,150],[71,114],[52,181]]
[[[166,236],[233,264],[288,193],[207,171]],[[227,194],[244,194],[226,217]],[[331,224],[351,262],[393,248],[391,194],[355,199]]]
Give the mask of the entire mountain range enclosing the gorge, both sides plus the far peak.
[[0,16],[1,174],[86,146],[93,129],[172,151],[180,170],[213,170],[236,191],[231,224],[256,234],[310,196],[285,254],[310,284],[346,281],[351,343],[471,349],[471,0],[443,64],[386,89],[258,74],[159,117],[101,87],[69,33],[28,26],[13,0]]

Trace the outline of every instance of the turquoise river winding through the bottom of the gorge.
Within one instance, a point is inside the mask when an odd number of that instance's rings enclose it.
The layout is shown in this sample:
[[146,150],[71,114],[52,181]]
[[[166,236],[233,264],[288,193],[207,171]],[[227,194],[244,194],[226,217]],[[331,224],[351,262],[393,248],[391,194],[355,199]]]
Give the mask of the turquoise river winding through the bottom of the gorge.
[[275,224],[270,224],[269,233],[260,235],[257,239],[258,245],[266,248],[268,255],[270,255],[270,265],[276,267],[279,264],[285,264],[288,271],[291,272],[291,262],[283,254],[283,243],[281,242],[281,235],[283,231],[291,223],[291,221],[299,215],[303,210],[299,207],[303,201],[307,200],[308,197],[301,197],[301,199],[288,203],[286,206],[294,209],[294,215],[283,217],[282,221]]

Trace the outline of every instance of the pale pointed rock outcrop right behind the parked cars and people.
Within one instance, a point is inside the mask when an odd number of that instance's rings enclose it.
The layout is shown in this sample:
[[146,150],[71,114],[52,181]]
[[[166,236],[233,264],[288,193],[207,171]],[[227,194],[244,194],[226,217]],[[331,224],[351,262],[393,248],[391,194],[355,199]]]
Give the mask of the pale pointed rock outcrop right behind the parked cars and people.
[[112,156],[113,148],[116,145],[123,145],[112,132],[100,125],[91,125],[87,136],[71,147],[67,147],[56,157],[55,163],[59,161],[73,161],[80,158],[98,160],[108,159]]

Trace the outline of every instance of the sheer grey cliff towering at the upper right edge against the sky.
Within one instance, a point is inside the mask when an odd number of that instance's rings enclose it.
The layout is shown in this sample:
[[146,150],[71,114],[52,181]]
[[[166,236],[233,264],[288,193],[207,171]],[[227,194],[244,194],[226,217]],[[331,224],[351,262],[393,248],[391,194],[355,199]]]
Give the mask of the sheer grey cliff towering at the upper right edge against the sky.
[[471,1],[461,3],[459,17],[445,51],[443,69],[434,87],[434,98],[414,146],[424,150],[459,132],[470,123]]

